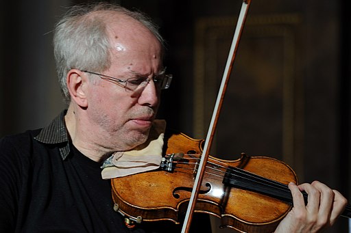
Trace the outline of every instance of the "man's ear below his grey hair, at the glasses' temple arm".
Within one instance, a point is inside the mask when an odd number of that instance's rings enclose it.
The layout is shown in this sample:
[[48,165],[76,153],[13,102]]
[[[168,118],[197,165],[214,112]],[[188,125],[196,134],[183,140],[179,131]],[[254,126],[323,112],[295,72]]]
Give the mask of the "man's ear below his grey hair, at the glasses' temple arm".
[[88,77],[86,73],[72,69],[69,70],[66,76],[67,88],[69,89],[69,94],[71,95],[71,100],[73,100],[80,107],[88,107],[88,101],[86,99],[86,94],[88,92]]

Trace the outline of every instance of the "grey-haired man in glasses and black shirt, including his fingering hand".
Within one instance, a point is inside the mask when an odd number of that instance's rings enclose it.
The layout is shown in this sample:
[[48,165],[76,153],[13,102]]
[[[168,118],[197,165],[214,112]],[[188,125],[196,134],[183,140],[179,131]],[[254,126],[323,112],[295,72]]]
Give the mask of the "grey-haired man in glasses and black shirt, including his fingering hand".
[[[101,178],[101,165],[143,145],[156,127],[171,79],[162,44],[147,18],[115,5],[75,7],[60,20],[54,47],[69,107],[43,129],[1,139],[1,232],[179,232],[171,222],[125,226]],[[346,205],[320,182],[289,188],[294,207],[276,232],[317,232]]]

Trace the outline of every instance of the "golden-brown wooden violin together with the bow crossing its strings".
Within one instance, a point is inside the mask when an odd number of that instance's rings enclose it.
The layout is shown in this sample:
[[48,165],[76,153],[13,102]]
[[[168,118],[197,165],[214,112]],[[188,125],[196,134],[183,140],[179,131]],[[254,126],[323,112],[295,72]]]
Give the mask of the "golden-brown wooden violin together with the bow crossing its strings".
[[[221,218],[223,227],[241,232],[274,232],[292,208],[289,182],[298,178],[289,165],[265,156],[227,161],[209,155],[224,94],[251,0],[243,0],[226,68],[206,139],[166,131],[160,168],[113,178],[114,210],[131,228],[142,221],[173,221],[189,232],[193,213]],[[302,192],[307,203],[307,193]],[[346,206],[343,217],[351,217]]]

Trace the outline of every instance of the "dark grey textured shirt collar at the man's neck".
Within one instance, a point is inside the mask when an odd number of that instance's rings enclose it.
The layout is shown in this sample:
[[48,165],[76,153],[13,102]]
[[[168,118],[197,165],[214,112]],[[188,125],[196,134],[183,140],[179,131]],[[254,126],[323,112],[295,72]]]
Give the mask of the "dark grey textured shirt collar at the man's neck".
[[67,110],[62,111],[60,115],[34,137],[34,139],[42,143],[57,144],[62,159],[66,159],[70,152],[69,134],[67,133],[66,124],[64,124],[66,112]]

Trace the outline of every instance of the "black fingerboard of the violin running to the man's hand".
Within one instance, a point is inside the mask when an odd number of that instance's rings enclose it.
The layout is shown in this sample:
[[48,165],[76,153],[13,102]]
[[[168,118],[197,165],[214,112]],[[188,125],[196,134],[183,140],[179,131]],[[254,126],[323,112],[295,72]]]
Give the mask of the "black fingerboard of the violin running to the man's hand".
[[[291,206],[293,205],[293,197],[287,184],[282,184],[275,180],[258,176],[237,167],[227,168],[226,174],[223,178],[223,184],[226,184],[228,187],[235,187],[245,189],[247,191],[253,191],[255,193],[261,193],[269,197],[274,197],[283,202],[287,202],[291,204]],[[302,194],[304,195],[304,202],[307,204],[308,194],[304,191]],[[341,216],[351,218],[350,205],[346,206]]]

